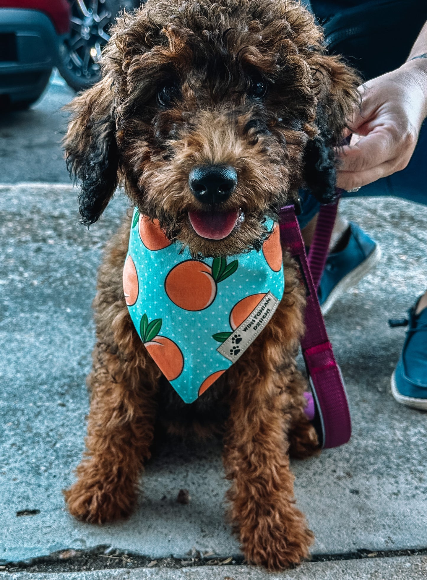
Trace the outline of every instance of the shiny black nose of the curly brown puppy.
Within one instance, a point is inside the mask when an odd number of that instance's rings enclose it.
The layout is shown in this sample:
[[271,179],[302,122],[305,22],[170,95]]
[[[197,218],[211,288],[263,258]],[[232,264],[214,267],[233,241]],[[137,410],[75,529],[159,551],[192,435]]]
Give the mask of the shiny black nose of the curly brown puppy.
[[196,165],[190,171],[189,186],[202,204],[221,204],[236,189],[236,169],[230,165]]

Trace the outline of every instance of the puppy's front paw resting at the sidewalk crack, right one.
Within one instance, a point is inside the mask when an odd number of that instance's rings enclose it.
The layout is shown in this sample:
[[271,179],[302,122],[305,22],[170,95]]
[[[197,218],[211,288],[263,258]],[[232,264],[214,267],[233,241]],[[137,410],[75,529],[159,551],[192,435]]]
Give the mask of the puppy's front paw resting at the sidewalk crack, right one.
[[298,516],[297,521],[292,517],[293,521],[288,521],[283,527],[277,520],[273,522],[271,516],[259,519],[257,527],[243,544],[245,558],[271,571],[291,568],[307,558],[314,534],[306,527],[301,512],[295,510],[293,515]]

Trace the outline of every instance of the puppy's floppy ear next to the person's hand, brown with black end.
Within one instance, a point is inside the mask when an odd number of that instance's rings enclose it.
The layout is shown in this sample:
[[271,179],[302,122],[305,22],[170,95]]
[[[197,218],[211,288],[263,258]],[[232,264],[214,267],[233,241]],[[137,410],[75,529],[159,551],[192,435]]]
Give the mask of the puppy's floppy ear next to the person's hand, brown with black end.
[[361,79],[339,57],[317,53],[310,60],[318,93],[316,125],[319,134],[304,152],[304,180],[317,201],[335,198],[336,164],[334,147],[342,143],[353,107],[359,103]]

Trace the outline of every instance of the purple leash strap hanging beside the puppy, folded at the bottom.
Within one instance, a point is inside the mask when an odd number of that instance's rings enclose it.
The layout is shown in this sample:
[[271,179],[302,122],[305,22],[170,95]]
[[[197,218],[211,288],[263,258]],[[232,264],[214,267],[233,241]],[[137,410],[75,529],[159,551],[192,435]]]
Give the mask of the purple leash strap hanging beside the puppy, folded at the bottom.
[[306,289],[306,332],[301,340],[301,349],[315,403],[313,425],[316,427],[321,446],[325,449],[347,443],[352,433],[341,371],[336,364],[332,345],[329,342],[316,291],[326,261],[332,227],[334,227],[337,204],[332,205],[334,207],[322,206],[320,210],[312,248],[309,252],[316,282],[313,281],[309,262],[307,262],[305,245],[294,206],[288,205],[281,208],[280,215],[281,243],[289,249],[298,263]]

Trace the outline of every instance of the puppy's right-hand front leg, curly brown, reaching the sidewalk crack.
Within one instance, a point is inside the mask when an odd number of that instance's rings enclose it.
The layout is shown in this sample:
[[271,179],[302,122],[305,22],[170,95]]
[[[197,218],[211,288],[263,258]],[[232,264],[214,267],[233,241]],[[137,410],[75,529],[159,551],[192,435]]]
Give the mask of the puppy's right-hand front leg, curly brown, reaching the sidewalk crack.
[[230,516],[245,557],[270,570],[299,563],[314,537],[295,507],[284,397],[274,375],[241,385],[231,402],[224,452],[233,481]]

